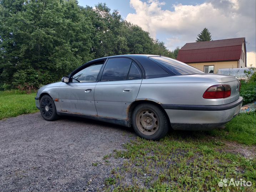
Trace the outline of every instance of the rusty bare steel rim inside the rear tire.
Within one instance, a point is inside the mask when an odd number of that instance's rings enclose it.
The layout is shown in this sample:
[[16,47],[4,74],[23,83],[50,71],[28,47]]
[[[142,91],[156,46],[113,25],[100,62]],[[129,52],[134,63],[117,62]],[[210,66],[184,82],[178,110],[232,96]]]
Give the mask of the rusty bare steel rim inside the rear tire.
[[152,110],[141,110],[136,115],[136,125],[144,135],[154,135],[159,128],[159,119]]

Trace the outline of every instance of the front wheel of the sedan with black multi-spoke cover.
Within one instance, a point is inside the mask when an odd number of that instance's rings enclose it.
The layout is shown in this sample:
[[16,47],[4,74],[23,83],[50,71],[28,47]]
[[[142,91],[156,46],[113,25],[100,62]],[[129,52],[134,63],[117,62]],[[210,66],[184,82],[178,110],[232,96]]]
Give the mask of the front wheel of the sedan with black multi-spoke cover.
[[44,95],[40,99],[40,113],[46,121],[54,121],[59,117],[54,101],[49,95]]

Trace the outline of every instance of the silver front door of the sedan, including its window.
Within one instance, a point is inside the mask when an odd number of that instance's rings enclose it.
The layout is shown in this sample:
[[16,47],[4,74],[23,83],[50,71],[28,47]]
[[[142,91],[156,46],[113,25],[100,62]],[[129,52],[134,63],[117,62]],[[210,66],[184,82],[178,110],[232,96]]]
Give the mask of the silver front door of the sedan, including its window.
[[59,102],[62,112],[97,116],[94,91],[97,76],[104,61],[92,64],[71,77],[71,82],[59,87]]

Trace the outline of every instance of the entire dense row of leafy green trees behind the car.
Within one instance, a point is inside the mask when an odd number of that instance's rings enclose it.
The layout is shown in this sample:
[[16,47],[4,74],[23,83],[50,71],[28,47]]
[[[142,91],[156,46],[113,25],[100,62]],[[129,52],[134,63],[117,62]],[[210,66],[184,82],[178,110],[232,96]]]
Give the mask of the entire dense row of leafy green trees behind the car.
[[76,0],[0,0],[0,90],[36,89],[110,55],[174,58],[163,42],[110,11]]

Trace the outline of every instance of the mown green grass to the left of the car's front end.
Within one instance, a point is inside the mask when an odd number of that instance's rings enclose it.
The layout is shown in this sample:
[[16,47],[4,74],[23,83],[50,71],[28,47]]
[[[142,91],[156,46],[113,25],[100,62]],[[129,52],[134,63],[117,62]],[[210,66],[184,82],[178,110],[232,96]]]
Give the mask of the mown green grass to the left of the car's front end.
[[0,91],[0,119],[37,112],[35,96],[35,92],[26,94],[17,90]]

